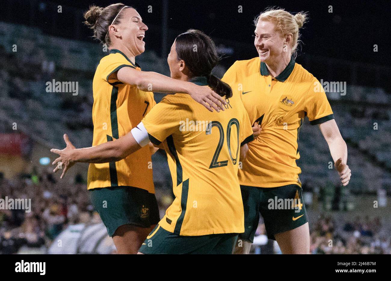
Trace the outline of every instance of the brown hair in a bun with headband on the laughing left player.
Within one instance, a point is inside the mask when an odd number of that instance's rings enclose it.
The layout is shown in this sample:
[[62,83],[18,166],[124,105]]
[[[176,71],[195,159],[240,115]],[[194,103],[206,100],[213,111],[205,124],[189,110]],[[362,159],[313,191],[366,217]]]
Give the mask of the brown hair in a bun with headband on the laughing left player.
[[[84,24],[93,29],[94,35],[93,38],[100,41],[102,44],[110,46],[110,36],[108,36],[109,26],[113,24],[118,24],[122,19],[122,12],[118,14],[122,8],[126,5],[122,3],[111,4],[106,8],[101,8],[95,5],[91,5],[90,9],[84,13]],[[132,8],[130,6],[126,7]],[[118,15],[118,16],[117,16]],[[117,18],[115,18],[117,16]]]

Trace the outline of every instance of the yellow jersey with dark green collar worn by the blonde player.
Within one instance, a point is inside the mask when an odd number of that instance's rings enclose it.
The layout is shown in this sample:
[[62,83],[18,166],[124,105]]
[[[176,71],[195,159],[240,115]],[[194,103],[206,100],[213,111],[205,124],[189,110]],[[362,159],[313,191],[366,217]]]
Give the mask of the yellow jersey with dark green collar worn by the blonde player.
[[293,59],[272,78],[259,57],[236,61],[222,80],[242,98],[251,124],[262,126],[260,136],[248,144],[240,184],[301,186],[296,160],[300,158],[298,137],[303,118],[308,116],[311,124],[334,119],[319,81]]

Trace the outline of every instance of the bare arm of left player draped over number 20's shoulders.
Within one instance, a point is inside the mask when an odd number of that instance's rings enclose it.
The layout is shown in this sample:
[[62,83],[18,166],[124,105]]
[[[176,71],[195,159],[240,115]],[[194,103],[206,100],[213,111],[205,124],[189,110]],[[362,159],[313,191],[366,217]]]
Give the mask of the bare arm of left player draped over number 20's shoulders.
[[[113,74],[115,75],[115,74]],[[226,101],[213,92],[208,86],[199,86],[191,82],[172,79],[152,71],[138,71],[123,67],[117,72],[117,79],[129,85],[136,85],[142,91],[189,94],[195,101],[213,112],[224,111]]]

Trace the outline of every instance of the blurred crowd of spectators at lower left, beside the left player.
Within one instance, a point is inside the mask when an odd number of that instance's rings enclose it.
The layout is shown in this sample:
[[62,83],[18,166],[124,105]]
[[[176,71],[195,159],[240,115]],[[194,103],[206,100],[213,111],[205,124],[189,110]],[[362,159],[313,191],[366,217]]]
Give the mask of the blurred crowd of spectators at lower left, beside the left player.
[[56,182],[44,172],[7,180],[0,174],[0,198],[31,199],[30,212],[0,209],[0,253],[17,253],[22,246],[40,248],[66,228],[86,220],[92,211],[86,186]]

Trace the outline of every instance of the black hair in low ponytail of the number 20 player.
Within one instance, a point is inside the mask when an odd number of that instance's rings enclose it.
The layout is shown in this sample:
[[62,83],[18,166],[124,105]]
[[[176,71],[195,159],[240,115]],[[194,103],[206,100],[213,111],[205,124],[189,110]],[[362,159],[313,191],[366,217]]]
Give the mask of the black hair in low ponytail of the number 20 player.
[[187,30],[176,37],[175,50],[178,59],[185,61],[193,77],[206,76],[213,91],[222,97],[232,96],[230,85],[211,74],[221,57],[217,55],[215,43],[209,36],[200,30]]

